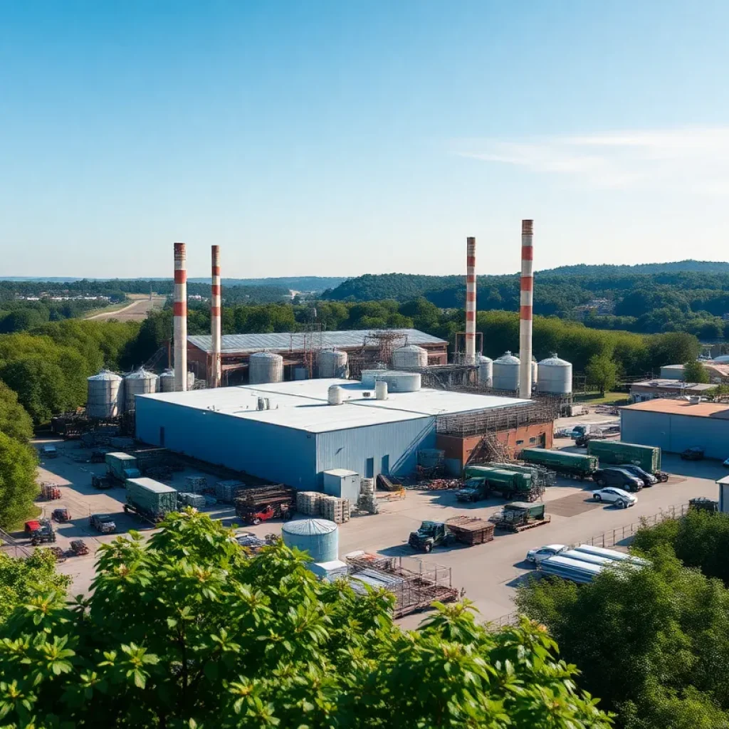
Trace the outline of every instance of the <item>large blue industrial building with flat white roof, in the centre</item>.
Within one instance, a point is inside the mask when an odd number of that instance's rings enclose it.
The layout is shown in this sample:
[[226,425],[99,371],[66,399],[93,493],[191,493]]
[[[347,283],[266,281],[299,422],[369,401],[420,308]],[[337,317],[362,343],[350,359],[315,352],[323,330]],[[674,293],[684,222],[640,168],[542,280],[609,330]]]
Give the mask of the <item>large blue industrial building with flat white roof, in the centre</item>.
[[[330,405],[340,386],[344,402]],[[529,401],[417,389],[376,399],[347,380],[306,380],[138,395],[136,437],[201,461],[320,490],[323,472],[408,475],[434,448],[436,419]]]

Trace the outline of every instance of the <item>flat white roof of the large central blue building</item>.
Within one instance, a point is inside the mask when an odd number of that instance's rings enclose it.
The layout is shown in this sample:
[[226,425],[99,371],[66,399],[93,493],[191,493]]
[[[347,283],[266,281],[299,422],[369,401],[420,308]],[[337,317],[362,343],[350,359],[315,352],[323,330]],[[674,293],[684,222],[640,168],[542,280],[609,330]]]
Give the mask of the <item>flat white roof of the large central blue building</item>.
[[[345,399],[342,405],[328,404],[328,391],[332,385],[343,389]],[[364,397],[365,392],[370,393],[370,397]],[[530,402],[512,397],[433,389],[390,394],[388,399],[378,400],[372,388],[363,387],[362,383],[356,381],[338,379],[159,392],[140,394],[137,398],[138,402],[141,399],[169,402],[181,408],[206,410],[311,433],[477,412]],[[270,409],[258,410],[259,398],[267,398]]]

